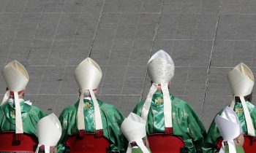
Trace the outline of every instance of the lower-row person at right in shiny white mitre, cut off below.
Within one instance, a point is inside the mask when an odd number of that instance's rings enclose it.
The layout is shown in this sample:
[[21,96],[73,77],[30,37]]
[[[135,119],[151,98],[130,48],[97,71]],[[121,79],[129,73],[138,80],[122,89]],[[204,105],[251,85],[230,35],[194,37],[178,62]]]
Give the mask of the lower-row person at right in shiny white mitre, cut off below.
[[244,153],[244,133],[235,111],[226,107],[214,120],[223,138],[219,153]]

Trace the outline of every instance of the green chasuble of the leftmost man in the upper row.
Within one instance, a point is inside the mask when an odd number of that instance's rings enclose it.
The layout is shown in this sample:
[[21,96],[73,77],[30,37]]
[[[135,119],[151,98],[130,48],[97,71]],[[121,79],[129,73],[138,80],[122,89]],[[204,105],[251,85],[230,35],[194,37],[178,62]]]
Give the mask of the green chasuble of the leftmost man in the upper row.
[[[24,133],[37,136],[37,122],[47,114],[36,106],[20,102]],[[15,131],[15,104],[6,102],[0,106],[0,131]]]

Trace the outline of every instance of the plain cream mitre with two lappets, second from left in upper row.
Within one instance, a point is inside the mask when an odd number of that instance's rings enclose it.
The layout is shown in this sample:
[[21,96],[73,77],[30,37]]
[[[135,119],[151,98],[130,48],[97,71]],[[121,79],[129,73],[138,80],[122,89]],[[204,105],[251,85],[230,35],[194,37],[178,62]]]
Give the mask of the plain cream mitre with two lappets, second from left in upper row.
[[83,60],[77,68],[75,68],[75,80],[80,87],[80,100],[78,105],[78,130],[80,135],[83,136],[85,132],[85,123],[83,116],[83,92],[89,90],[91,99],[94,103],[94,122],[95,122],[95,134],[96,136],[103,136],[102,118],[100,115],[99,104],[94,95],[94,91],[99,86],[99,82],[102,79],[102,70],[99,65],[91,58]]

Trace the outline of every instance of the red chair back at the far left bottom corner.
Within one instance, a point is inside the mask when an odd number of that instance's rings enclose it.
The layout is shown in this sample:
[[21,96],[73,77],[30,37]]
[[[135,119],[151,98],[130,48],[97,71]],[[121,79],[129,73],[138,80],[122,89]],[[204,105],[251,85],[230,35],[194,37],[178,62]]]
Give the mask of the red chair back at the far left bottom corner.
[[20,141],[15,141],[15,132],[0,132],[0,152],[34,152],[38,141],[36,136],[23,133]]

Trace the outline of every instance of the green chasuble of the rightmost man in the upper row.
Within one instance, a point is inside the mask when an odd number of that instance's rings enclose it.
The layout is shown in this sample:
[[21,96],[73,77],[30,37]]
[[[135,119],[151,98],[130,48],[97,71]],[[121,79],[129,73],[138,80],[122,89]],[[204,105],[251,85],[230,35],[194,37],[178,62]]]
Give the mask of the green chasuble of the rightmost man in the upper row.
[[[246,105],[249,109],[249,113],[252,117],[252,124],[254,125],[254,127],[256,127],[256,108],[255,106],[250,103],[249,101],[246,101]],[[222,114],[222,110],[220,110],[218,112],[219,115]],[[245,117],[244,117],[244,109],[242,106],[242,103],[236,102],[235,106],[234,106],[234,111],[236,112],[236,114],[238,115],[238,119],[240,121],[240,124],[242,126],[242,129],[244,130],[244,134],[247,134],[247,128],[246,128],[246,121],[245,121]],[[217,143],[219,141],[219,138],[221,138],[221,134],[219,133],[219,129],[216,125],[216,123],[211,122],[211,125],[209,127],[207,136],[206,136],[206,140],[205,143],[203,144],[203,152],[205,153],[214,153],[217,152]]]

